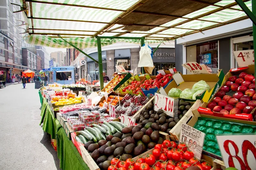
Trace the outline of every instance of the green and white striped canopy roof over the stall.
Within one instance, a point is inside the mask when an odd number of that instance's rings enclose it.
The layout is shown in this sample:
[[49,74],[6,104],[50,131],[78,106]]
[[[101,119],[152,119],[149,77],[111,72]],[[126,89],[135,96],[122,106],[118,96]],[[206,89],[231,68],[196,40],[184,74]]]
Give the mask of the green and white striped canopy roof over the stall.
[[[251,0],[244,0],[252,11]],[[234,0],[20,0],[27,43],[54,48],[106,46],[123,41],[148,43],[174,40],[189,34],[247,19]],[[131,37],[131,39],[122,39]]]

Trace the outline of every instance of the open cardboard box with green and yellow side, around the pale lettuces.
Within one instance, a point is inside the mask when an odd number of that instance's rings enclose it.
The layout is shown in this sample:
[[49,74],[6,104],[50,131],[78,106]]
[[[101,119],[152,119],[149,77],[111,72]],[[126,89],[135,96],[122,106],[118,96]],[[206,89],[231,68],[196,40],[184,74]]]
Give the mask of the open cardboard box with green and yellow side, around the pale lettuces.
[[[167,95],[172,88],[177,88],[180,90],[192,89],[193,85],[204,80],[211,87],[210,91],[205,90],[201,95],[196,96],[196,100],[199,99],[202,102],[208,102],[214,94],[218,91],[220,86],[225,82],[225,74],[223,70],[220,70],[218,74],[181,74],[177,72],[173,74],[172,79],[174,81],[170,82],[169,85],[164,89],[164,94]],[[161,90],[161,89],[160,89]],[[161,93],[161,91],[160,91]],[[195,102],[192,99],[183,99],[188,102]]]

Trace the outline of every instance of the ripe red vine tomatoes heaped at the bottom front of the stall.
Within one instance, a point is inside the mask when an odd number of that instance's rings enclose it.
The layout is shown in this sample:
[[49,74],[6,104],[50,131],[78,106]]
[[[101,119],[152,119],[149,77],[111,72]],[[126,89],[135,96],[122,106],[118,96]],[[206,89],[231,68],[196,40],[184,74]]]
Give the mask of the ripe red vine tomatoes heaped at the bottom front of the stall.
[[142,154],[140,157],[122,157],[106,160],[100,166],[102,170],[210,170],[212,165],[205,160],[198,160],[194,153],[189,151],[185,144],[177,145],[175,142],[164,140],[163,144],[155,145],[152,152]]

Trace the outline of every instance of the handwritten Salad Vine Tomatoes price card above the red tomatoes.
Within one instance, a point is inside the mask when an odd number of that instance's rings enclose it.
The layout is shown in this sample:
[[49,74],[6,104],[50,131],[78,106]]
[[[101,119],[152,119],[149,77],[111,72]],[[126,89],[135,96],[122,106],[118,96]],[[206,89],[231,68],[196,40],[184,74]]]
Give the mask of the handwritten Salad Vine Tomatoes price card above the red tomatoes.
[[202,156],[204,137],[205,133],[188,126],[187,124],[181,125],[179,143],[185,143],[197,159],[201,159]]

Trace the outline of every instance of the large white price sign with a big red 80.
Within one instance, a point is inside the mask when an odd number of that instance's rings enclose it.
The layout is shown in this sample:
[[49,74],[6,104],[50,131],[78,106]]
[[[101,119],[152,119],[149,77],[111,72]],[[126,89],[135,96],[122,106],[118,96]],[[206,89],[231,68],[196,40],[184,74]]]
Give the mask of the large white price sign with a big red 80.
[[216,138],[226,168],[255,169],[255,134],[216,134]]

